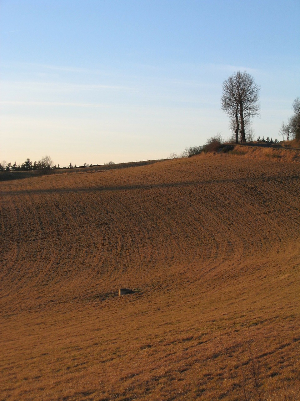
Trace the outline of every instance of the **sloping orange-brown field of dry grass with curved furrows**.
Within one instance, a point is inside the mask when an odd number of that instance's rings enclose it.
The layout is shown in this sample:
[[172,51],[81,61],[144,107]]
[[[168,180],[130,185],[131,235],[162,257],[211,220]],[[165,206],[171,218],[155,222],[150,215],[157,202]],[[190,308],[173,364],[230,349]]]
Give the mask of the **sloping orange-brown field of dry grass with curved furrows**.
[[244,156],[1,182],[0,399],[299,400],[299,188]]

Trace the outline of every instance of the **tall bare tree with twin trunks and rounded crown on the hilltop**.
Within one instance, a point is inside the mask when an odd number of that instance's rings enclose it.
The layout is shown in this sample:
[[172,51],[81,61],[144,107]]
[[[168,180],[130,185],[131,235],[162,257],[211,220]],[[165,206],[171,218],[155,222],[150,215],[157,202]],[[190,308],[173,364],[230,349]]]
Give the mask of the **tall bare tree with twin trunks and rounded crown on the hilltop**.
[[246,142],[245,127],[250,119],[259,115],[258,103],[260,86],[246,71],[237,71],[222,84],[221,109],[230,117],[230,127],[235,132],[236,143],[240,133],[241,142]]

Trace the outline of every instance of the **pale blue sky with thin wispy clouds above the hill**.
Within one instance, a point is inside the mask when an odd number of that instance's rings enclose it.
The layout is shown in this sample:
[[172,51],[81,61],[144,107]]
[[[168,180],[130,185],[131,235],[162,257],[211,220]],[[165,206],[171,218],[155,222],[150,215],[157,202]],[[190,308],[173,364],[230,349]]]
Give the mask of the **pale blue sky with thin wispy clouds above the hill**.
[[226,139],[236,71],[261,87],[255,136],[280,140],[299,20],[299,0],[0,0],[0,161],[152,160]]

